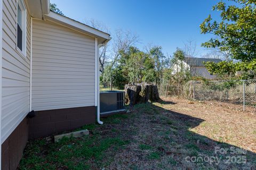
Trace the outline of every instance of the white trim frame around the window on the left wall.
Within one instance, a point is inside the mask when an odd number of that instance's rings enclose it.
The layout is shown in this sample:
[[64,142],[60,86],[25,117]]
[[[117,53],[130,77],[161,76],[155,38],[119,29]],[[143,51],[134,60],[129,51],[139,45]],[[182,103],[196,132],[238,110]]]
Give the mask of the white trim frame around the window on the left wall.
[[[18,47],[18,4],[22,11],[22,51]],[[27,58],[27,9],[24,0],[17,0],[16,4],[16,50]]]

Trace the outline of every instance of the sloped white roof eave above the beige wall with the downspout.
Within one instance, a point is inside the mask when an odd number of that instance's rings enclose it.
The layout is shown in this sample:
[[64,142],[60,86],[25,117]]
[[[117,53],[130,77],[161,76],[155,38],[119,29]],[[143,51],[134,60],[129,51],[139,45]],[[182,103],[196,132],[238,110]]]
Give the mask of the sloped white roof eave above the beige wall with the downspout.
[[59,23],[61,25],[64,25],[66,27],[69,27],[71,29],[77,30],[79,32],[83,32],[86,35],[97,37],[99,44],[106,43],[111,39],[110,35],[106,32],[102,32],[100,30],[94,29],[88,25],[85,25],[81,22],[75,21],[73,19],[70,19],[66,16],[62,16],[52,11],[50,11],[48,14],[45,14],[44,18],[46,20],[50,20],[50,21]]

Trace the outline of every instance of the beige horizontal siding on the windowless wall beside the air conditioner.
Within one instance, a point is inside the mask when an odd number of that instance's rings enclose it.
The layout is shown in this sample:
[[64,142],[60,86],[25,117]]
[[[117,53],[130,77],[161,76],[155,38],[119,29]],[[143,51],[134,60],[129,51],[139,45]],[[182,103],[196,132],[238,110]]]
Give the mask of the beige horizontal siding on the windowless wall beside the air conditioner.
[[32,109],[94,106],[94,38],[33,20]]

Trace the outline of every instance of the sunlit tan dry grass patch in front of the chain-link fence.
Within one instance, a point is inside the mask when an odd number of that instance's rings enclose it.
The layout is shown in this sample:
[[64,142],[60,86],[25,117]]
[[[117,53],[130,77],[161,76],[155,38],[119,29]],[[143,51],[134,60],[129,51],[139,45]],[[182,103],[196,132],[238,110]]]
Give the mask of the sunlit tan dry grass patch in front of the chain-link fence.
[[[177,105],[165,108],[171,111],[204,120],[191,131],[219,142],[226,142],[243,149],[256,152],[256,114],[243,112],[240,106],[219,104],[209,101],[191,101],[179,98],[164,98],[178,101]],[[178,106],[178,107],[177,107]]]

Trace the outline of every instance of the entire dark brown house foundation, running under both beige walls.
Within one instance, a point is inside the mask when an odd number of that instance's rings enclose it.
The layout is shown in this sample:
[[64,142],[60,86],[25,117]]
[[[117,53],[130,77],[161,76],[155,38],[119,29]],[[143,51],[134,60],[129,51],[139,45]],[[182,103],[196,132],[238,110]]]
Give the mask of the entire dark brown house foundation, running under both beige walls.
[[95,123],[96,107],[76,107],[35,112],[24,118],[2,144],[2,170],[17,169],[28,139],[47,137]]

